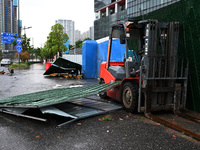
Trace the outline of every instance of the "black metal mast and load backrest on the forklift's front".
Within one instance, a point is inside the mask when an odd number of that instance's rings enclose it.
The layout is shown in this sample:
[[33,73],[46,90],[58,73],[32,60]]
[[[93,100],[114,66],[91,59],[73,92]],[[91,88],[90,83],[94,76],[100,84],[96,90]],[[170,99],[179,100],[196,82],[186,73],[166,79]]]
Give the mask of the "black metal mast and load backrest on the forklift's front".
[[[185,109],[188,61],[178,58],[179,23],[150,21],[145,27],[138,111]],[[141,107],[141,95],[144,107]]]

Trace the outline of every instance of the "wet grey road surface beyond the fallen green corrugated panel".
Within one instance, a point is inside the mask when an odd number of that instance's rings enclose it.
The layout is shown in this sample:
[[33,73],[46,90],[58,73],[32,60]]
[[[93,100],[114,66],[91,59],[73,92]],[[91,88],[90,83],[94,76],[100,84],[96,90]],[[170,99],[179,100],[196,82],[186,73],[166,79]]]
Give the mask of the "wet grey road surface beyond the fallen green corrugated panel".
[[[0,67],[0,71],[7,71],[7,67]],[[43,64],[31,65],[27,70],[14,70],[14,74],[0,74],[0,98],[49,90],[76,85],[98,84],[98,80],[69,80],[63,77],[43,76],[45,67]]]

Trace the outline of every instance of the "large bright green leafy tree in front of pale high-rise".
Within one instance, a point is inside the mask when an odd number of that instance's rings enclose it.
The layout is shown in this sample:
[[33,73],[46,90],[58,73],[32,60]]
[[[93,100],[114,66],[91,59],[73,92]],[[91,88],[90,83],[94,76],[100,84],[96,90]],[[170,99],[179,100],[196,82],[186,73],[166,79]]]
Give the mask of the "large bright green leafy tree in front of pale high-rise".
[[67,47],[64,45],[68,41],[69,37],[64,33],[64,27],[57,23],[51,27],[51,32],[47,37],[44,48],[41,50],[41,54],[45,58],[52,59],[59,52],[59,56],[62,56],[62,51],[66,51]]

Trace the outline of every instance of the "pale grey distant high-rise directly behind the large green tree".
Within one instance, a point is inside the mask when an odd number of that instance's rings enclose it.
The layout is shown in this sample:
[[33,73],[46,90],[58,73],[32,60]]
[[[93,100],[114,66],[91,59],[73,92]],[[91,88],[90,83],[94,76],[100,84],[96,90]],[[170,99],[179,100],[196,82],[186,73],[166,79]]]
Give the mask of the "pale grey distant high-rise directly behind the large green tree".
[[69,44],[75,45],[74,21],[58,19],[56,20],[56,23],[59,23],[64,27],[64,33],[67,33],[69,36]]

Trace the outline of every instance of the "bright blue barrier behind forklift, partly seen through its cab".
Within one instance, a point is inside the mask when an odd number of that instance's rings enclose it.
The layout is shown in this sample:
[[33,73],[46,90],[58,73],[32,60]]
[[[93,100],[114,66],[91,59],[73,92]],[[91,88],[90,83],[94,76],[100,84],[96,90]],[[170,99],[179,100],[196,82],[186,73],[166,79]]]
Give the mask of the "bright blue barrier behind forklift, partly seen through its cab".
[[[100,76],[100,65],[107,60],[107,51],[108,41],[97,43],[90,40],[83,43],[82,73],[85,78],[97,78]],[[125,51],[125,44],[120,44],[120,39],[114,39],[112,41],[110,61],[124,61]]]

